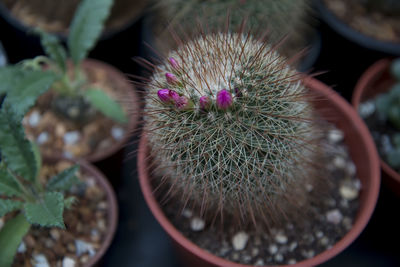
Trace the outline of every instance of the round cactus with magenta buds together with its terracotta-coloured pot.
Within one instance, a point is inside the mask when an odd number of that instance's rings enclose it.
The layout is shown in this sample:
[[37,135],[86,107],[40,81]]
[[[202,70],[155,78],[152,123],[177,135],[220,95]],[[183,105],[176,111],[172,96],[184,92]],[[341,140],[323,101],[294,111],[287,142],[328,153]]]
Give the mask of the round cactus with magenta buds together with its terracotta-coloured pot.
[[380,183],[368,129],[275,48],[204,35],[149,81],[140,185],[187,266],[313,266],[361,233]]

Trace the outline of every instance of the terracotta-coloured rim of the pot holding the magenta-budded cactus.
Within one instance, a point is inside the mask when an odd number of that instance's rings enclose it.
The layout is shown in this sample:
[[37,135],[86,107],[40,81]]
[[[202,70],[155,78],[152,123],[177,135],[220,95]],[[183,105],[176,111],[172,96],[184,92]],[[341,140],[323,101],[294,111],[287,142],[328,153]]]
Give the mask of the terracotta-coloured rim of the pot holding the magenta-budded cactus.
[[[314,266],[321,264],[323,262],[328,261],[333,258],[341,251],[343,251],[346,247],[348,247],[362,232],[365,226],[368,224],[368,221],[374,211],[380,187],[380,169],[378,163],[378,155],[376,151],[375,144],[372,140],[372,137],[369,134],[368,128],[362,121],[362,119],[358,116],[356,111],[348,104],[341,96],[335,93],[332,89],[330,89],[325,84],[315,80],[314,78],[308,77],[304,80],[306,87],[312,88],[326,99],[330,100],[333,105],[337,108],[341,108],[349,117],[352,118],[353,123],[356,125],[355,129],[360,132],[360,135],[364,137],[363,144],[366,147],[368,153],[366,154],[369,157],[371,164],[368,166],[370,170],[371,179],[368,181],[370,183],[369,191],[367,192],[366,197],[364,197],[365,203],[360,205],[364,207],[364,209],[360,209],[353,227],[347,234],[338,241],[331,249],[325,250],[324,252],[316,255],[311,259],[307,259],[301,262],[296,263],[295,265],[288,266]],[[143,133],[140,139],[139,151],[138,151],[138,176],[139,183],[142,189],[143,196],[145,198],[146,203],[148,204],[151,212],[154,217],[158,221],[158,223],[164,228],[164,230],[170,235],[170,237],[178,243],[180,246],[184,247],[191,253],[197,255],[204,261],[212,263],[216,266],[236,266],[236,267],[244,267],[248,265],[242,265],[238,263],[234,263],[220,257],[217,257],[200,247],[194,244],[192,241],[187,239],[180,233],[172,223],[167,219],[159,206],[157,200],[153,196],[153,192],[151,189],[151,185],[149,182],[149,173],[147,170],[147,155],[148,155],[148,147],[147,147],[147,138],[146,134]]]

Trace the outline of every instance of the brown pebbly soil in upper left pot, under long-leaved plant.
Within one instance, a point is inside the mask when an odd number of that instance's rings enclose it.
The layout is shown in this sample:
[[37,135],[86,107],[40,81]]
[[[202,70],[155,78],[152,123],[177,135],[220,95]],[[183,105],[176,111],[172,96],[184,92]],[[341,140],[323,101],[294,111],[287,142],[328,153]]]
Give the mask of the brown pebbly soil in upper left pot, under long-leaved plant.
[[[104,90],[111,98],[121,100],[126,114],[134,99],[127,97],[125,81],[107,75],[106,69],[85,68],[91,87]],[[129,133],[129,124],[121,124],[96,112],[92,118],[74,122],[60,116],[51,107],[55,93],[49,90],[43,94],[24,118],[27,137],[35,141],[44,155],[63,155],[82,158],[103,153],[104,150],[121,143]]]

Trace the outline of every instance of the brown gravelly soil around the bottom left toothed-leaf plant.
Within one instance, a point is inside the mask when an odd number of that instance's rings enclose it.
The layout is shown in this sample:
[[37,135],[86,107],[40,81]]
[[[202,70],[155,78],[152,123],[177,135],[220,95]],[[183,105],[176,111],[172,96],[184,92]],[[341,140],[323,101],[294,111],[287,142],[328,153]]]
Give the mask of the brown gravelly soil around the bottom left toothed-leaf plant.
[[[40,176],[42,182],[70,166],[71,163],[66,161],[44,165]],[[19,246],[12,266],[77,267],[84,266],[94,257],[108,231],[107,196],[90,175],[79,171],[78,178],[83,183],[65,194],[77,198],[77,204],[64,211],[66,230],[32,226]],[[8,218],[6,216],[5,220]],[[75,265],[63,265],[67,262]]]

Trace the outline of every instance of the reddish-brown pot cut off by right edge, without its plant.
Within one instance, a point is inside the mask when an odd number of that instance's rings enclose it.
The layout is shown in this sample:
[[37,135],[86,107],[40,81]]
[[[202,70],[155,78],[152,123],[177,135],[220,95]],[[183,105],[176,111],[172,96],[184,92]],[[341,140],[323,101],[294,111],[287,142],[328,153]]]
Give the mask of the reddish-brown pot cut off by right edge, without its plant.
[[[371,99],[379,93],[388,91],[395,83],[390,74],[391,59],[381,59],[369,67],[356,84],[352,104],[356,110],[361,102]],[[400,194],[400,174],[380,159],[382,178],[391,190]]]

